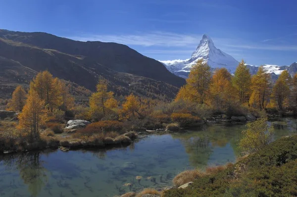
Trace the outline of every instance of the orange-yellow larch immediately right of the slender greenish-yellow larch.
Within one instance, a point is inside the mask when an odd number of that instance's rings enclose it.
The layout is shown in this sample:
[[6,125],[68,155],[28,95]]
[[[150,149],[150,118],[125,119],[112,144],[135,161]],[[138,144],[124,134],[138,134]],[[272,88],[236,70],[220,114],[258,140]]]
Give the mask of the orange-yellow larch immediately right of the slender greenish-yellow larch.
[[260,66],[251,79],[251,95],[248,101],[250,106],[260,110],[266,107],[271,92],[270,79],[270,74]]

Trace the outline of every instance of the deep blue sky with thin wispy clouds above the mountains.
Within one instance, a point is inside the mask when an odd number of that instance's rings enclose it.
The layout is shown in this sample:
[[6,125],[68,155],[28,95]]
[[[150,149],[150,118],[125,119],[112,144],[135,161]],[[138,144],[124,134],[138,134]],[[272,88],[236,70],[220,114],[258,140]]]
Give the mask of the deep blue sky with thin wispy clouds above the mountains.
[[297,61],[297,0],[0,0],[0,29],[116,42],[187,59],[202,34],[252,65]]

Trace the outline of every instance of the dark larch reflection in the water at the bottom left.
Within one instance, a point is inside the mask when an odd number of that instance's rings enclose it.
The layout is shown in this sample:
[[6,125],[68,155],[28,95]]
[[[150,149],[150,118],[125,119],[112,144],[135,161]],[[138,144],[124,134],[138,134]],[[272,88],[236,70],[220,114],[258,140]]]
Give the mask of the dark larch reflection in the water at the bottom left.
[[47,170],[40,161],[40,152],[3,155],[0,160],[7,168],[19,170],[33,197],[38,196],[48,181]]

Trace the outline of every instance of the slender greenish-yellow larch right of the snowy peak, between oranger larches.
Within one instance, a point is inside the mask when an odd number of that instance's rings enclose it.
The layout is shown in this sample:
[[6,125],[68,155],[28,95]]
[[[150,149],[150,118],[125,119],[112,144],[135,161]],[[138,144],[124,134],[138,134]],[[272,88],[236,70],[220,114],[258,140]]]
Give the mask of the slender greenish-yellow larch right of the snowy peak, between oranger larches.
[[244,60],[237,66],[232,79],[241,103],[246,103],[250,94],[251,76]]

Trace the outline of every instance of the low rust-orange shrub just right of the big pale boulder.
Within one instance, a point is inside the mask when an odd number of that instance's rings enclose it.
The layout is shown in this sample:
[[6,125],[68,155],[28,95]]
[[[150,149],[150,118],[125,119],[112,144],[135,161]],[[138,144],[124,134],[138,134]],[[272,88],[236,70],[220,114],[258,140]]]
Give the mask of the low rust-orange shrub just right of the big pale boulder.
[[102,120],[99,122],[94,122],[89,124],[87,128],[100,129],[101,131],[117,131],[120,132],[123,130],[123,123],[116,120]]

